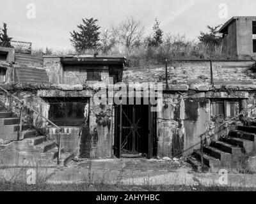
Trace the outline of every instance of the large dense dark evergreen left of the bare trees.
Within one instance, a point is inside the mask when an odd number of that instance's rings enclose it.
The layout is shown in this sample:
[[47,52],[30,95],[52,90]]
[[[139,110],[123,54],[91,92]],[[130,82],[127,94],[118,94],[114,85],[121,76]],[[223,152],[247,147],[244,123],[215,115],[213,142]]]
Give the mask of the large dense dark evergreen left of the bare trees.
[[100,43],[100,27],[96,25],[97,19],[82,19],[83,24],[77,25],[79,31],[70,32],[72,45],[78,52],[84,50],[94,50],[99,47]]

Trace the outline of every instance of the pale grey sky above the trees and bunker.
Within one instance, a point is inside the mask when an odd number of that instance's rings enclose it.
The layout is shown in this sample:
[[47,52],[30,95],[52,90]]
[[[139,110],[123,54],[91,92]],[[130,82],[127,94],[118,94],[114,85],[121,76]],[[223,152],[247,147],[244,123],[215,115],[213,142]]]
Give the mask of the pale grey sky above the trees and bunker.
[[[31,3],[35,18],[28,18]],[[104,30],[133,15],[145,26],[145,34],[152,32],[157,18],[164,34],[186,34],[196,40],[207,25],[224,24],[233,16],[253,16],[255,9],[255,0],[0,0],[0,23],[8,24],[13,40],[32,42],[33,48],[70,50],[70,31],[82,18],[97,18]]]

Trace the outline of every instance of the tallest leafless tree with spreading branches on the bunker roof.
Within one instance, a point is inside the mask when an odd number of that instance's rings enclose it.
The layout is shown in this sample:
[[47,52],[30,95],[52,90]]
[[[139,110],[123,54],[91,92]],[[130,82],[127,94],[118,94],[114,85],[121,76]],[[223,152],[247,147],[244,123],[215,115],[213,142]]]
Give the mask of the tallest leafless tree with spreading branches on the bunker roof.
[[136,20],[132,15],[128,16],[126,20],[120,23],[120,43],[124,45],[128,54],[131,53],[132,48],[140,45],[143,33],[144,27],[142,22]]

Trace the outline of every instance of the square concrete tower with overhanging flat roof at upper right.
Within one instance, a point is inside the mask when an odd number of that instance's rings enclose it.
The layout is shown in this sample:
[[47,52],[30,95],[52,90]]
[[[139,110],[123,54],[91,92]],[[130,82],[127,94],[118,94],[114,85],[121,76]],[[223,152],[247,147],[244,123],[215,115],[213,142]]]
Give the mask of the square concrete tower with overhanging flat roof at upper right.
[[243,59],[256,56],[256,17],[232,17],[220,29],[229,55]]

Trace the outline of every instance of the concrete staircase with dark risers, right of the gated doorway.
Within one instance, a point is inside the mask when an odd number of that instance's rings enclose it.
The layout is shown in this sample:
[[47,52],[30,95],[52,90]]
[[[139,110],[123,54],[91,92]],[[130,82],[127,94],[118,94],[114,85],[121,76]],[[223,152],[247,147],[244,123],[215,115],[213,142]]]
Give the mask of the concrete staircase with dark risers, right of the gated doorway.
[[249,122],[248,126],[236,126],[227,137],[204,147],[204,166],[200,150],[194,150],[188,163],[196,171],[204,168],[204,171],[218,172],[221,168],[237,168],[245,154],[253,150],[256,150],[256,122]]

